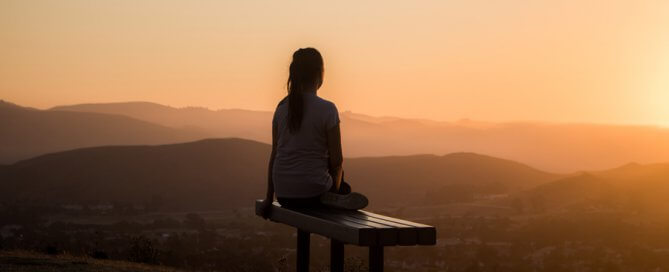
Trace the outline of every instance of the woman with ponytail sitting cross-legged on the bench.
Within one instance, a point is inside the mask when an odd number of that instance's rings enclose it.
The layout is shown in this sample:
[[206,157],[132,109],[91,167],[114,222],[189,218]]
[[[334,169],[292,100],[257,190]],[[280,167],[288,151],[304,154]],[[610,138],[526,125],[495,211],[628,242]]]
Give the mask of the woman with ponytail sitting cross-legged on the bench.
[[272,120],[265,217],[275,193],[281,206],[289,208],[367,206],[367,198],[351,193],[343,181],[339,112],[332,102],[317,96],[323,70],[318,50],[301,48],[293,53],[288,96],[279,102]]

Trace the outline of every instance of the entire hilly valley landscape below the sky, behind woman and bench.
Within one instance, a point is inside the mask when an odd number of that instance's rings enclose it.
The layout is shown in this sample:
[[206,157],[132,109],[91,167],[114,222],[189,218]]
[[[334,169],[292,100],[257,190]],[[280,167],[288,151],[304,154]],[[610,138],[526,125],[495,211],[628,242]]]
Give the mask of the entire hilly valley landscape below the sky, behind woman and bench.
[[[252,210],[265,190],[270,113],[149,103],[0,111],[0,249],[292,269],[293,230]],[[669,161],[665,129],[341,117],[345,176],[369,209],[438,229],[435,248],[389,249],[390,271],[669,269],[669,164],[629,163]],[[324,268],[327,241],[313,247]],[[346,251],[349,268],[364,271],[364,250]]]

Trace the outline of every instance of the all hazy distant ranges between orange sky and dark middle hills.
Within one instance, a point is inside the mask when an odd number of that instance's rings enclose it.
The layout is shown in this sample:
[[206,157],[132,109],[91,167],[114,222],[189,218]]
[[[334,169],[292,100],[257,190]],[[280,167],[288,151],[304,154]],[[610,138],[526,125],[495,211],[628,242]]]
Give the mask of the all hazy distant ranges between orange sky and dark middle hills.
[[[6,150],[0,153],[0,163],[95,145],[164,144],[226,137],[270,141],[271,112],[173,108],[148,102],[81,104],[49,110],[18,110],[3,104],[0,111],[11,111],[11,115],[0,115],[0,137],[6,139],[0,143],[0,150]],[[38,121],[15,122],[20,118]],[[115,122],[102,121],[105,118]],[[474,152],[557,173],[669,161],[669,129],[663,127],[437,122],[352,112],[342,112],[340,119],[346,157]],[[104,128],[95,127],[103,123],[107,124]],[[87,131],[102,135],[93,137]],[[26,137],[43,133],[53,136]]]

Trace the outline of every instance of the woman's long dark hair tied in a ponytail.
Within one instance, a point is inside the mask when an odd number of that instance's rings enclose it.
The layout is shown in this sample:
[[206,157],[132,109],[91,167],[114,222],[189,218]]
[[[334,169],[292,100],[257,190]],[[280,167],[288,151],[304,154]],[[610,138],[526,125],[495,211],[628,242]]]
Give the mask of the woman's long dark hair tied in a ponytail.
[[304,115],[302,93],[310,88],[320,88],[323,84],[323,57],[318,50],[308,47],[300,48],[293,53],[290,63],[288,89],[288,129],[294,133],[300,129]]

